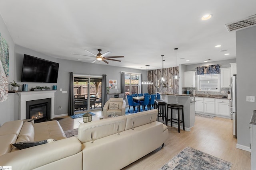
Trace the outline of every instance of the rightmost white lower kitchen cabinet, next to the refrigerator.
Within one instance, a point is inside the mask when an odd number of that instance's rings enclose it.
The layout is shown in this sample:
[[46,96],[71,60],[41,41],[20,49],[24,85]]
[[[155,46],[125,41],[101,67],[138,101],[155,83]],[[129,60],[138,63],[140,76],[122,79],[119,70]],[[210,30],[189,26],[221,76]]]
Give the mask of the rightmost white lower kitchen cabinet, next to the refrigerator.
[[215,99],[215,114],[230,117],[230,100]]

